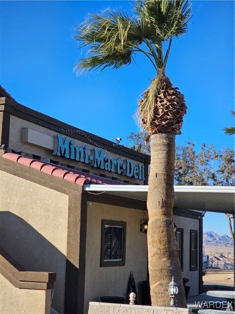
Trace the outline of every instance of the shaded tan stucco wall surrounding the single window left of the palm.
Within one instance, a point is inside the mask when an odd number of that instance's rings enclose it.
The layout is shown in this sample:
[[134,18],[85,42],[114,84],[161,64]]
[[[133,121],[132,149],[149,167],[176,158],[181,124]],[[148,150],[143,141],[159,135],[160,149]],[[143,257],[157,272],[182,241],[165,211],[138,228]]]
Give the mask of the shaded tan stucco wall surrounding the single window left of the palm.
[[[141,282],[147,278],[147,237],[140,232],[146,211],[92,203],[87,209],[86,273],[84,313],[89,301],[100,296],[124,296],[130,272],[141,293]],[[91,204],[90,204],[91,205]],[[101,220],[126,222],[126,262],[124,266],[100,267]],[[140,296],[140,294],[139,294]]]

